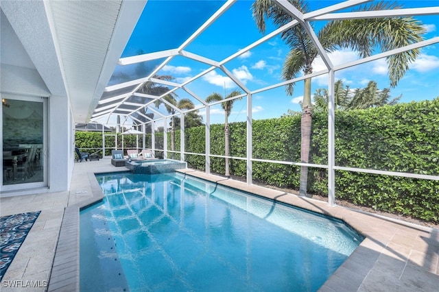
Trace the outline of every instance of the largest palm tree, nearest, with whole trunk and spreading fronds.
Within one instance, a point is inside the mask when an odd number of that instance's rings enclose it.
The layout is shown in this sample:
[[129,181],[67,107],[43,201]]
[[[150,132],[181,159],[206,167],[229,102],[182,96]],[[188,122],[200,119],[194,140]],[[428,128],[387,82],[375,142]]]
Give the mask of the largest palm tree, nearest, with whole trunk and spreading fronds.
[[[300,12],[309,12],[307,3],[302,0],[289,0]],[[380,1],[371,5],[362,5],[358,10],[393,10],[399,7],[395,3]],[[252,14],[257,27],[265,32],[265,18],[272,19],[274,25],[281,27],[292,21],[272,0],[256,0],[252,4]],[[389,51],[423,40],[425,29],[420,22],[411,17],[385,17],[381,19],[348,19],[329,21],[318,32],[318,40],[327,51],[339,48],[349,48],[357,51],[361,57],[370,56],[375,47]],[[283,64],[282,75],[285,80],[298,77],[302,71],[305,75],[312,73],[313,60],[318,57],[318,51],[302,25],[295,25],[282,33],[281,37],[291,48]],[[392,87],[401,80],[408,69],[408,64],[419,55],[419,50],[406,51],[388,57],[390,85]],[[311,140],[311,78],[304,80],[302,102],[300,160],[309,162],[309,145]],[[287,85],[287,94],[292,95],[294,84]],[[300,195],[307,194],[308,167],[300,167]]]

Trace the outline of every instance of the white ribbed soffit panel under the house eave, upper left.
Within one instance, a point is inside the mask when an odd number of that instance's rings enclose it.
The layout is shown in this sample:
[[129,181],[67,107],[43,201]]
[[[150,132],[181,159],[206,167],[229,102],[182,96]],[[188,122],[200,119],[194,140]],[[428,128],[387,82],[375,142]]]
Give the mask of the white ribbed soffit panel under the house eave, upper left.
[[86,122],[145,1],[49,1],[74,120]]

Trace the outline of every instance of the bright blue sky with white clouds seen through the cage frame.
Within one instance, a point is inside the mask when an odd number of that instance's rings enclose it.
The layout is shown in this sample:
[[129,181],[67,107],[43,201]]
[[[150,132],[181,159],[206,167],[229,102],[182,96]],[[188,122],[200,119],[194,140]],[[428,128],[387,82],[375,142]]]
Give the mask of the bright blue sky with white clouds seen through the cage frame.
[[[340,1],[309,2],[312,10],[315,10]],[[136,55],[139,50],[150,52],[175,49],[222,3],[224,1],[149,1],[146,5],[145,15],[141,17],[123,57]],[[251,3],[252,1],[246,0],[237,1],[185,50],[219,62],[261,38],[263,34],[257,30],[252,19]],[[398,1],[397,3],[404,8],[439,5],[439,1]],[[163,9],[165,8],[168,11],[167,17],[165,19],[158,18],[158,16],[163,17]],[[162,14],[159,14],[159,11]],[[438,15],[416,18],[420,19],[427,29],[426,39],[439,36]],[[272,32],[272,30],[274,27],[269,24],[267,33]],[[396,88],[391,88],[392,97],[402,95],[401,102],[410,102],[434,99],[439,96],[438,47],[439,44],[436,44],[421,49],[420,56],[416,62],[410,65],[410,70],[407,71],[399,85]],[[288,51],[289,48],[280,37],[276,36],[239,58],[227,62],[225,66],[250,90],[257,90],[283,81],[281,69]],[[358,58],[355,51],[349,50],[335,51],[329,56],[335,65]],[[178,56],[158,74],[172,75],[176,82],[185,82],[207,68],[209,65]],[[324,68],[322,60],[319,58],[313,64],[314,72]],[[335,78],[341,79],[344,85],[348,85],[350,88],[364,87],[370,80],[375,80],[381,89],[390,87],[385,60],[377,60],[338,71]],[[227,95],[231,90],[239,89],[220,70],[211,71],[187,87],[202,99],[214,92],[222,95],[226,93]],[[326,87],[327,75],[315,77],[311,93],[314,93],[317,88]],[[200,104],[182,90],[177,93],[180,98],[190,98],[195,104]],[[253,96],[252,101],[253,119],[280,117],[288,109],[300,110],[298,101],[302,99],[302,95],[302,82],[296,84],[292,96],[286,95],[283,87],[258,93]],[[224,122],[224,112],[220,106],[213,107],[211,114],[212,123]],[[229,121],[244,121],[245,118],[245,99],[236,101]]]

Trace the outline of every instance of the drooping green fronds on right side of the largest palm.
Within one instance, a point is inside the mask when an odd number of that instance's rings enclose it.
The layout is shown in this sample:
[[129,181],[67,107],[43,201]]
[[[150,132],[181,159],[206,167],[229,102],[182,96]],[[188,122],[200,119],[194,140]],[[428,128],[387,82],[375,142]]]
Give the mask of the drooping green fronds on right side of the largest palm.
[[[359,10],[391,10],[399,8],[395,3],[380,1],[364,5]],[[327,51],[337,47],[358,51],[361,57],[372,55],[379,47],[389,51],[423,40],[425,27],[412,17],[385,17],[380,19],[348,19],[331,21],[320,32],[319,40]],[[394,87],[409,69],[409,64],[420,54],[418,49],[405,51],[386,58],[390,86]]]

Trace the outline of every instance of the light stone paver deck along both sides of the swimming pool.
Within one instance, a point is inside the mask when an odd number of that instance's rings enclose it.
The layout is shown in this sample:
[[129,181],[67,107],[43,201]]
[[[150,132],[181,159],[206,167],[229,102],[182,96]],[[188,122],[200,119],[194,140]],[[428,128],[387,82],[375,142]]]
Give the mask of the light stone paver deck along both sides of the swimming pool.
[[[75,163],[70,191],[0,198],[1,216],[41,210],[0,283],[1,291],[79,291],[79,209],[102,198],[94,173],[126,170],[114,167],[108,158]],[[283,202],[343,219],[366,236],[319,291],[437,291],[439,287],[436,228],[331,207],[193,169],[179,171],[269,197],[273,204]]]

